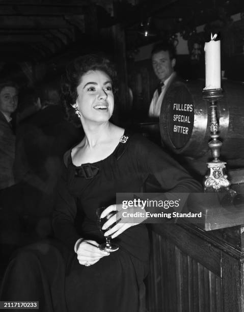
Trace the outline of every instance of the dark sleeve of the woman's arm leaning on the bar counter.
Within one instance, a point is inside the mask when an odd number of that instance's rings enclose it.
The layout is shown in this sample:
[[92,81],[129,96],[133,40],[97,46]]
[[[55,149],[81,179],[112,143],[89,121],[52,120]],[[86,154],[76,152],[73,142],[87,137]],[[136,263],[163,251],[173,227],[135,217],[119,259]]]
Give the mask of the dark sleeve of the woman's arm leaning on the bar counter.
[[[136,146],[135,158],[139,162],[141,171],[146,181],[149,175],[154,176],[160,185],[161,193],[151,199],[153,200],[178,200],[180,198],[179,210],[183,209],[189,193],[202,193],[203,188],[179,163],[170,157],[162,148],[141,138]],[[159,192],[157,188],[157,192]],[[150,207],[150,212],[173,212],[169,207]]]

